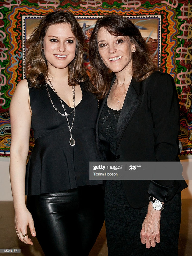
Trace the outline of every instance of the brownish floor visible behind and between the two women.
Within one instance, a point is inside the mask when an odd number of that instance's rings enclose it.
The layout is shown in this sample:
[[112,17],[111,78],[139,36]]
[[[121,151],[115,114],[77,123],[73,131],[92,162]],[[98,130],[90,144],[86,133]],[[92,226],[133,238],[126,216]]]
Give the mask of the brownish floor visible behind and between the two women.
[[[0,249],[21,249],[21,253],[1,253],[0,256],[44,256],[37,239],[32,238],[32,240],[34,245],[29,246],[18,239],[14,228],[13,202],[0,201]],[[182,218],[178,252],[179,256],[192,256],[192,199],[182,199]],[[89,256],[107,256],[104,225]]]

